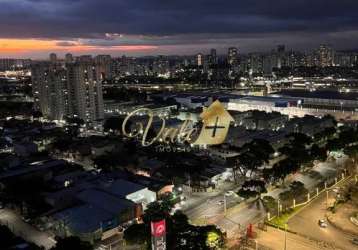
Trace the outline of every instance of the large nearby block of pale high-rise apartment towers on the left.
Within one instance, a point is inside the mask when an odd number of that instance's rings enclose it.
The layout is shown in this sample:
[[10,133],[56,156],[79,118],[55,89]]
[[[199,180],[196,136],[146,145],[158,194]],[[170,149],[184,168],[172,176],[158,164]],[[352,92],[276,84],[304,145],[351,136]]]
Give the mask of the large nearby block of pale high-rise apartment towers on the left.
[[87,124],[103,119],[101,73],[94,60],[83,59],[65,66],[53,61],[32,66],[35,109],[45,117],[52,120],[79,117]]

